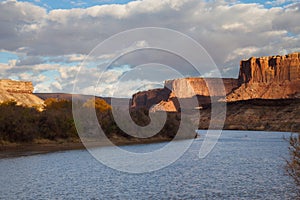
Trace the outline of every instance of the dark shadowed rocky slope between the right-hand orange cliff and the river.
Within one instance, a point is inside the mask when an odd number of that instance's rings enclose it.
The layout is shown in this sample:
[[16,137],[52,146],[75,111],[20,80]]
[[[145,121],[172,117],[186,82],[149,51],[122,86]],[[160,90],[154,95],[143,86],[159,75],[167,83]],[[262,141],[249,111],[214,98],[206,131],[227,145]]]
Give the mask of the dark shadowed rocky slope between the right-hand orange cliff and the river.
[[[211,108],[200,110],[199,129],[207,129]],[[300,99],[251,99],[227,103],[225,130],[300,130]]]

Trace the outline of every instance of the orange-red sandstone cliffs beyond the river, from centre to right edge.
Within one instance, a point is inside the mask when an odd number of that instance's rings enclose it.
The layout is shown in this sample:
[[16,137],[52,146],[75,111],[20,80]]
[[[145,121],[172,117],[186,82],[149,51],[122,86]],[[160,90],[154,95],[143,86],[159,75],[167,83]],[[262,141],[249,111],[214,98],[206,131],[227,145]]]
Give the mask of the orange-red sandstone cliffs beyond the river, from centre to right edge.
[[195,96],[199,106],[211,101],[300,98],[300,53],[242,60],[237,79],[167,80],[164,88],[134,94],[131,108],[178,111],[177,98],[188,100]]

